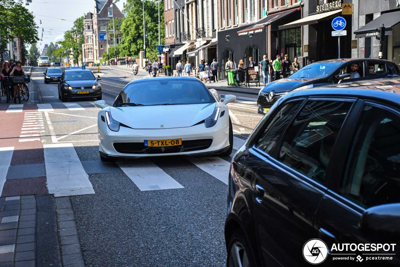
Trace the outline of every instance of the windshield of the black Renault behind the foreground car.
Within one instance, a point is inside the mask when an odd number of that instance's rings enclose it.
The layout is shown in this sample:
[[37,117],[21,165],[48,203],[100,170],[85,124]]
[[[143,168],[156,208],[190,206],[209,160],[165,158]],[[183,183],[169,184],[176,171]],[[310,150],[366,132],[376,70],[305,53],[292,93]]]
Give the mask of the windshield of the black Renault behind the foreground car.
[[299,69],[288,78],[324,78],[332,74],[343,62],[317,62]]

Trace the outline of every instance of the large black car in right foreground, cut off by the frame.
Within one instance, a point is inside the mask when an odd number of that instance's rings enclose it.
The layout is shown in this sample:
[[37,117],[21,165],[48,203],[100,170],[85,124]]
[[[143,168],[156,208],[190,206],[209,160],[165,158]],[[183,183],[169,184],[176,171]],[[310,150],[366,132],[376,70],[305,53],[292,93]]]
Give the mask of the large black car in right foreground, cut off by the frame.
[[400,266],[400,78],[278,99],[227,202],[227,266]]

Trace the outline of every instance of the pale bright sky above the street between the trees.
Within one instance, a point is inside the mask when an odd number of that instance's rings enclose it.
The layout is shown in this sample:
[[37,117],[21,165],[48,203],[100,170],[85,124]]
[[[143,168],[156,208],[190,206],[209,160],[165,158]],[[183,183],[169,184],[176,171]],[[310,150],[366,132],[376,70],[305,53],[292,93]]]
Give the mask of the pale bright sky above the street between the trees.
[[[116,3],[120,10],[124,2],[126,3],[126,0]],[[62,40],[62,34],[72,28],[76,18],[86,16],[88,12],[93,13],[94,0],[32,0],[32,3],[25,7],[35,16],[36,25],[39,26],[39,38],[43,32],[42,41],[38,41],[38,49],[42,52],[44,44],[55,44]]]

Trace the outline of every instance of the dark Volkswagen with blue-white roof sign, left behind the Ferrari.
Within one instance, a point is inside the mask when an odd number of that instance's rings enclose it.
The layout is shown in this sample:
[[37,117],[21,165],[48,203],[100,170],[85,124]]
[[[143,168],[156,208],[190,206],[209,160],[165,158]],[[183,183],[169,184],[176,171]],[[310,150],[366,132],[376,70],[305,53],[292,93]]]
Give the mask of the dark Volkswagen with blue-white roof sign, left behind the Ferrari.
[[66,101],[71,98],[93,97],[102,99],[100,76],[94,77],[89,69],[70,69],[64,71],[58,83],[58,98]]

